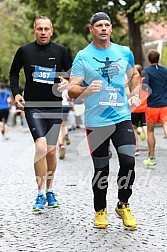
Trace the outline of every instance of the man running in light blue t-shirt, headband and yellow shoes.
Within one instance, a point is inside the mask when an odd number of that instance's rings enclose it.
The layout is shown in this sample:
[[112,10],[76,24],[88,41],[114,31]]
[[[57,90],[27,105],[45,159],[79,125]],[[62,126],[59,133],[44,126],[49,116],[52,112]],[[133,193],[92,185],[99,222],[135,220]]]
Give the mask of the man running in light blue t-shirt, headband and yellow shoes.
[[135,179],[135,136],[126,96],[126,82],[131,92],[130,105],[139,106],[139,74],[128,47],[110,42],[110,17],[99,12],[92,16],[89,30],[93,41],[81,50],[73,63],[69,96],[84,98],[85,126],[94,164],[92,187],[97,228],[107,228],[107,187],[110,139],[119,159],[118,204],[116,213],[126,228],[137,223],[129,208]]

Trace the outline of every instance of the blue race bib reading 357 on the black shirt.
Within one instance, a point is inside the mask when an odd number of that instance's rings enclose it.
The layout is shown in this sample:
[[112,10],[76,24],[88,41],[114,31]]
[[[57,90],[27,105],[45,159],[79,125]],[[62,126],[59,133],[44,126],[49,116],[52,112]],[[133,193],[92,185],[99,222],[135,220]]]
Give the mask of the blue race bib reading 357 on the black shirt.
[[55,76],[55,68],[35,66],[33,73],[33,81],[46,84],[54,84]]

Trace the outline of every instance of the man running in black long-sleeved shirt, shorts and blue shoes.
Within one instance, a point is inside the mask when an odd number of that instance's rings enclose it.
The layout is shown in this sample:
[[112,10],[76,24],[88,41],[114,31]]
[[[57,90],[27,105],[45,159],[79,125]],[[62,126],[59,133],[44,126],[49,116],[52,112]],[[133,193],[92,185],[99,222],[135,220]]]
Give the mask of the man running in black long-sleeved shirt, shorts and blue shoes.
[[[25,117],[35,142],[34,169],[38,184],[38,196],[33,206],[35,211],[48,206],[57,207],[58,201],[52,189],[56,169],[56,144],[62,122],[61,85],[67,81],[59,76],[72,66],[69,52],[53,43],[52,22],[45,16],[34,22],[35,42],[21,46],[10,69],[10,86],[18,109],[25,111]],[[24,68],[24,98],[19,94],[19,73]],[[66,75],[65,75],[66,74]],[[58,90],[57,90],[58,88]],[[46,183],[46,185],[45,185]],[[44,194],[46,186],[46,196]]]

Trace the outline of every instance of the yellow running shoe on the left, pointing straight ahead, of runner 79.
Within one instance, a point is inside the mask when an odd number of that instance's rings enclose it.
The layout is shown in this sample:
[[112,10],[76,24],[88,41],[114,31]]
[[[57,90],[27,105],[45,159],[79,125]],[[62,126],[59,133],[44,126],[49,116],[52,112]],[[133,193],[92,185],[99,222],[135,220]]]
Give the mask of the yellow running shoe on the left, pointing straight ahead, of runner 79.
[[94,227],[96,228],[107,228],[107,209],[97,211],[95,213]]

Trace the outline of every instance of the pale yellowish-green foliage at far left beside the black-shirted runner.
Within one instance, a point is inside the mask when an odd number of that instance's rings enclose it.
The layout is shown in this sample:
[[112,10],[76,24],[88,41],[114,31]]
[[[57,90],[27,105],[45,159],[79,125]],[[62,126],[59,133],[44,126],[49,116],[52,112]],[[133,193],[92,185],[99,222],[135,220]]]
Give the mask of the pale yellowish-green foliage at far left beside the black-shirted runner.
[[8,84],[13,56],[20,45],[32,40],[33,34],[25,17],[25,5],[20,5],[17,0],[5,0],[0,2],[0,9],[0,80]]

